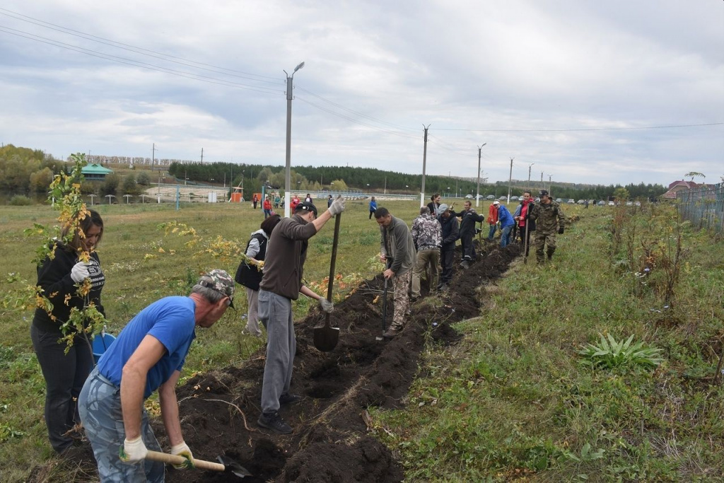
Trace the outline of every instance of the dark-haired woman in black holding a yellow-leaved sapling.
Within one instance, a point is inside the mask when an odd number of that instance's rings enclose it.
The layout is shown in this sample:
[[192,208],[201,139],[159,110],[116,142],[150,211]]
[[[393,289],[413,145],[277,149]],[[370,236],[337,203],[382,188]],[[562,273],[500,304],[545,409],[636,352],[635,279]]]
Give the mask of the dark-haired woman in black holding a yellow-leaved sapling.
[[77,311],[94,307],[105,316],[101,290],[106,277],[95,251],[103,238],[103,219],[96,211],[84,209],[69,236],[71,230],[67,224],[62,239],[53,242],[50,255],[38,266],[37,285],[52,306],[35,308],[30,327],[33,348],[46,380],[48,435],[60,455],[68,455],[72,448],[72,435],[80,423],[75,401],[93,369],[90,338],[86,332],[79,332],[79,326],[87,328],[90,319]]

